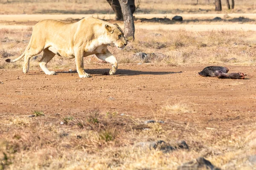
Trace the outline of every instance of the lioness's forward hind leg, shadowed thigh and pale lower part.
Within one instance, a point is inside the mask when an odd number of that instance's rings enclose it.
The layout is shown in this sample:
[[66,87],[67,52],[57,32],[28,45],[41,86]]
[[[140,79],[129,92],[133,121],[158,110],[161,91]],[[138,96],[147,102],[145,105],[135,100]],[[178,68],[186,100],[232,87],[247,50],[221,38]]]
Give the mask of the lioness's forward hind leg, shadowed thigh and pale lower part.
[[44,49],[43,57],[39,61],[39,65],[41,69],[44,71],[47,75],[55,75],[55,71],[49,71],[46,67],[47,63],[55,56],[55,54],[52,51],[49,51],[48,49]]

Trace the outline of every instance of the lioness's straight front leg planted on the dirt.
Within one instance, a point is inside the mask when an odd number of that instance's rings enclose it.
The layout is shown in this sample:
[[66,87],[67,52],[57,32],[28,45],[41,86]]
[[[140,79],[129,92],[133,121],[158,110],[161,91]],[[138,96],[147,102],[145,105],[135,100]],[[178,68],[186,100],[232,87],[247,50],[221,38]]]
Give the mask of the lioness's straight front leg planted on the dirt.
[[79,74],[79,77],[80,78],[91,77],[90,74],[87,74],[84,71],[84,53],[83,53],[83,51],[76,51],[75,59],[76,59],[76,71]]

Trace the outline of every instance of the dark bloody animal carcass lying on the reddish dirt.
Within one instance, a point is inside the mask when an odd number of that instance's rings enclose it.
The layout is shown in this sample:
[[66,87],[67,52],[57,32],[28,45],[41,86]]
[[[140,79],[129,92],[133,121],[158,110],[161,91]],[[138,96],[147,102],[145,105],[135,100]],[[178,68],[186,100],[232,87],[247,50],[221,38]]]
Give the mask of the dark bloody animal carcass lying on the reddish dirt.
[[209,66],[203,69],[198,74],[203,77],[218,77],[222,79],[244,79],[244,74],[239,73],[227,73],[229,71],[226,67]]

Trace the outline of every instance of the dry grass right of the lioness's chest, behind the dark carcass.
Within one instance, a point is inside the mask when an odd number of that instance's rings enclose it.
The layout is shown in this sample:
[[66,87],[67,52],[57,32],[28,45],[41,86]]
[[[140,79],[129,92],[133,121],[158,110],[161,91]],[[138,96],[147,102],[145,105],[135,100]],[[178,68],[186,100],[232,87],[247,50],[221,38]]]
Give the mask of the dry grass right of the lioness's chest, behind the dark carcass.
[[[169,65],[196,63],[224,64],[227,59],[234,65],[255,65],[256,42],[254,32],[244,31],[146,31],[137,30],[135,42],[124,51],[110,48],[118,54],[119,62],[162,62]],[[134,54],[148,54],[144,60]]]

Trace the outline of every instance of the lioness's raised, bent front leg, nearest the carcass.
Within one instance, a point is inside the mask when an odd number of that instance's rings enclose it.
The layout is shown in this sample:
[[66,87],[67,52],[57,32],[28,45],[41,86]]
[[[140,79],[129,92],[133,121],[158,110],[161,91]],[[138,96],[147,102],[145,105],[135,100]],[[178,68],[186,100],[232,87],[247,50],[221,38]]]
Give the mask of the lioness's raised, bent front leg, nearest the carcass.
[[110,75],[113,75],[116,73],[117,67],[118,67],[118,63],[116,60],[116,57],[114,57],[111,52],[108,51],[108,49],[106,51],[104,51],[103,53],[97,53],[95,54],[99,59],[102,59],[103,61],[109,62],[112,64],[112,68],[109,71]]

